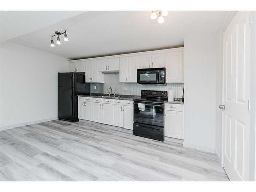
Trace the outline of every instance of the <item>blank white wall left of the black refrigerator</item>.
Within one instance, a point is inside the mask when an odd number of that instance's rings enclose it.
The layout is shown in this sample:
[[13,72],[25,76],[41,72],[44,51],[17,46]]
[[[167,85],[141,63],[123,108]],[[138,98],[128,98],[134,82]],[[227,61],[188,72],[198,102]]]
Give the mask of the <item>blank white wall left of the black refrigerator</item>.
[[0,130],[56,119],[59,71],[68,71],[66,58],[2,42]]

